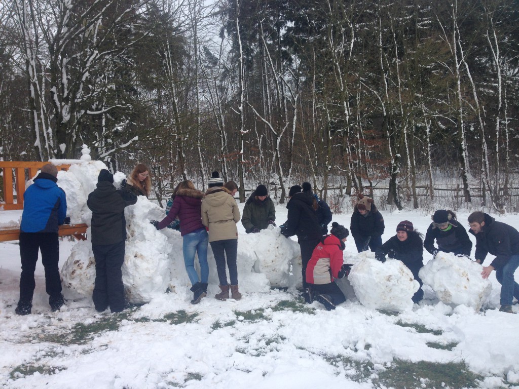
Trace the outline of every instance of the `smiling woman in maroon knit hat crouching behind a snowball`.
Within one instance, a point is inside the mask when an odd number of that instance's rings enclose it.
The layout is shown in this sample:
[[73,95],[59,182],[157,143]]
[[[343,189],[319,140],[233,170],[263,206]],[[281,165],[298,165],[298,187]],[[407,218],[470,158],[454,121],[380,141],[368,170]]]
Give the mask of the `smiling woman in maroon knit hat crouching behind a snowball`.
[[397,226],[397,234],[377,249],[375,257],[380,262],[386,262],[386,254],[390,258],[404,262],[420,284],[420,288],[413,296],[413,302],[416,303],[424,298],[424,290],[421,288],[424,283],[418,276],[418,272],[424,267],[424,246],[422,246],[421,234],[413,228],[411,221],[401,221]]

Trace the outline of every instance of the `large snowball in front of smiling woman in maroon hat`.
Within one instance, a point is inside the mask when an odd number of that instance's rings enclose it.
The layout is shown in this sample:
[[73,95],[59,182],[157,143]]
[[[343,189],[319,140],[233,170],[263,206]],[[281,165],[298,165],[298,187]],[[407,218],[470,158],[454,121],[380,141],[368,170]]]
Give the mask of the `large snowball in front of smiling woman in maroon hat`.
[[351,269],[348,280],[355,295],[365,307],[388,311],[408,311],[420,284],[402,261],[388,259],[382,263],[364,258]]

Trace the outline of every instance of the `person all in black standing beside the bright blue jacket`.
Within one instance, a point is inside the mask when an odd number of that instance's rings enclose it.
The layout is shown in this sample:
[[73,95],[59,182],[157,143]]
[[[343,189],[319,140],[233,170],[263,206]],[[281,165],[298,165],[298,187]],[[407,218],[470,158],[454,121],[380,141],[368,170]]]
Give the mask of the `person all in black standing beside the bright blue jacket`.
[[95,258],[95,285],[92,293],[95,309],[112,312],[125,308],[121,266],[125,260],[125,207],[135,204],[137,197],[127,188],[115,189],[114,176],[103,169],[97,188],[88,195],[92,211],[92,252]]

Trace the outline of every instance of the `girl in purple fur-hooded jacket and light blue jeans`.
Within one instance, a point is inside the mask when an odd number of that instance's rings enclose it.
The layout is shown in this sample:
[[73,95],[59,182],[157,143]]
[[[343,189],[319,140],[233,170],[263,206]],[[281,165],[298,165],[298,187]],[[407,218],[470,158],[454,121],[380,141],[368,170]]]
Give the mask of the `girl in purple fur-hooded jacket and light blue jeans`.
[[[187,275],[193,285],[192,304],[198,304],[202,297],[207,296],[207,279],[209,277],[209,266],[207,264],[207,245],[209,235],[206,227],[202,224],[201,205],[203,193],[195,189],[190,181],[183,181],[173,191],[173,205],[168,216],[160,222],[152,220],[157,230],[168,227],[169,224],[178,216],[182,227],[180,234],[182,235],[182,251],[184,254],[184,264],[186,266]],[[198,263],[200,264],[200,278],[195,270],[195,253],[198,254]]]

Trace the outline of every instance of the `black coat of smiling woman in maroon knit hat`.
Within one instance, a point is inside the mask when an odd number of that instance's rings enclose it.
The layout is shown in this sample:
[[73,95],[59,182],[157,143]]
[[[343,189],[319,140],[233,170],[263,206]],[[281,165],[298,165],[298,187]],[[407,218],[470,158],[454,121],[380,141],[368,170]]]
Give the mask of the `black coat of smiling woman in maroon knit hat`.
[[390,258],[404,262],[413,274],[424,266],[424,246],[417,232],[407,232],[407,239],[399,241],[397,235],[391,237],[386,243],[377,249],[375,255],[388,255]]

